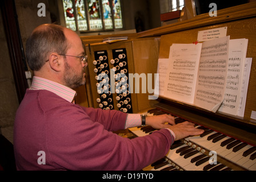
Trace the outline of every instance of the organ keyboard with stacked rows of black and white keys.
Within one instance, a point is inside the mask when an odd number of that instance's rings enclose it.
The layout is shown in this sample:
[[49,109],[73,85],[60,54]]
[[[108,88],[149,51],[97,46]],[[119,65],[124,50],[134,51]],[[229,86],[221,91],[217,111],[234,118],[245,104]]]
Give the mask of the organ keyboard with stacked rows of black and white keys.
[[[151,109],[147,114],[170,113]],[[174,117],[175,123],[187,121],[185,118],[175,115]],[[196,122],[193,123],[195,123],[195,127],[199,127],[205,132],[198,136],[175,141],[165,158],[151,164],[147,169],[151,171],[256,170],[256,146],[254,144],[246,143]],[[139,126],[131,128],[130,131],[137,137],[143,137],[153,133],[155,129],[151,126]],[[216,158],[214,158],[214,154],[216,154]]]

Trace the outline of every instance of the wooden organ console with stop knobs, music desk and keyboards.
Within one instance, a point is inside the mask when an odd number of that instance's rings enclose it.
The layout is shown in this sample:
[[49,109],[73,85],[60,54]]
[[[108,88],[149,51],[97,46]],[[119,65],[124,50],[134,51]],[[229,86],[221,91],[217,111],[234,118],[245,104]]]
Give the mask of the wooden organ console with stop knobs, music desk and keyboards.
[[[250,81],[244,117],[235,117],[191,106],[182,102],[159,97],[148,100],[151,93],[126,93],[119,91],[103,93],[97,90],[102,84],[98,73],[116,75],[122,73],[157,73],[158,58],[168,58],[173,43],[193,43],[198,31],[227,27],[230,39],[249,40],[246,57],[252,57]],[[171,114],[175,122],[190,121],[205,130],[201,136],[179,140],[171,146],[165,158],[145,170],[256,170],[256,120],[251,118],[256,111],[256,2],[219,10],[218,16],[209,14],[195,16],[182,22],[126,35],[101,35],[81,37],[89,59],[87,83],[79,88],[83,93],[77,103],[85,106],[117,109],[126,113]],[[127,40],[103,43],[109,36],[128,36]],[[118,77],[118,76],[117,76]],[[116,77],[115,77],[116,78]],[[105,80],[110,81],[110,80]],[[116,80],[115,80],[116,81]],[[121,81],[121,80],[120,80]],[[118,83],[116,83],[118,84]],[[141,83],[140,83],[141,84]],[[129,87],[129,85],[127,85]],[[81,89],[83,89],[81,91]],[[122,88],[120,88],[122,89]],[[150,134],[149,126],[129,130],[134,137]],[[217,154],[217,164],[209,164]]]

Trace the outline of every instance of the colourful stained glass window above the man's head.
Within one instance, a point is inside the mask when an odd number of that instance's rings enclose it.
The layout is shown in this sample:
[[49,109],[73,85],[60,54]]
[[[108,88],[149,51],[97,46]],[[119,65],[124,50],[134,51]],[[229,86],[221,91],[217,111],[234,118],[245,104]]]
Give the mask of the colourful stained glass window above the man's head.
[[62,1],[66,27],[71,30],[86,32],[123,28],[120,0]]

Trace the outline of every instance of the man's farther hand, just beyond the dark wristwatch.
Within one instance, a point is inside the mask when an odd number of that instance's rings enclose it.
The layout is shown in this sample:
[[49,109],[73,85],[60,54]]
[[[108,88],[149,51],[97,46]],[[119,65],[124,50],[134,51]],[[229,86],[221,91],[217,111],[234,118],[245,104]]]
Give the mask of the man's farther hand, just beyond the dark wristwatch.
[[154,129],[163,129],[175,125],[174,117],[168,114],[154,115],[146,117],[146,125],[152,126]]

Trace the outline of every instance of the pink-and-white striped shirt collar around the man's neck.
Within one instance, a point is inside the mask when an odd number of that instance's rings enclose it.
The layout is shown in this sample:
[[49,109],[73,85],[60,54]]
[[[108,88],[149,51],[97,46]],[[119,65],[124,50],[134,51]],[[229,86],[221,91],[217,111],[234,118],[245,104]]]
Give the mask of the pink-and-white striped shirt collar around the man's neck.
[[75,90],[67,86],[37,76],[33,77],[30,90],[48,90],[57,94],[59,97],[62,97],[68,102],[73,102],[76,95]]

